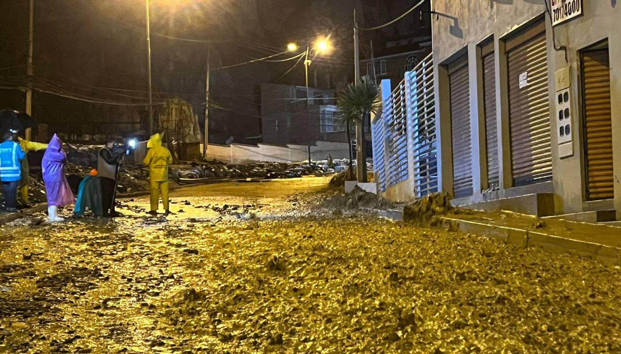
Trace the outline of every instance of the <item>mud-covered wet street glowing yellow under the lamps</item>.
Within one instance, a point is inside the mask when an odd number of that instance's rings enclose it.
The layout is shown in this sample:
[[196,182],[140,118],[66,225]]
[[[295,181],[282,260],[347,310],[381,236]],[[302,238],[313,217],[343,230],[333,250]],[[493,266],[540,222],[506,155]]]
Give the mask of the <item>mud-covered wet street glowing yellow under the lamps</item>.
[[621,351],[618,267],[322,210],[325,181],[2,226],[0,352]]

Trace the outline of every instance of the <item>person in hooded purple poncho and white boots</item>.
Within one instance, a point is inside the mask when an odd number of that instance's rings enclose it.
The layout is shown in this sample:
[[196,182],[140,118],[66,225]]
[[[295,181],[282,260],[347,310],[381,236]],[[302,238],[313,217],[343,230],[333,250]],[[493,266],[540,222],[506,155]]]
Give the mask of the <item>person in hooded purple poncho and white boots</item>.
[[67,156],[62,149],[63,143],[55,134],[43,154],[41,167],[45,192],[47,193],[47,212],[50,221],[62,221],[57,214],[58,206],[70,205],[75,202],[69,182],[65,177]]

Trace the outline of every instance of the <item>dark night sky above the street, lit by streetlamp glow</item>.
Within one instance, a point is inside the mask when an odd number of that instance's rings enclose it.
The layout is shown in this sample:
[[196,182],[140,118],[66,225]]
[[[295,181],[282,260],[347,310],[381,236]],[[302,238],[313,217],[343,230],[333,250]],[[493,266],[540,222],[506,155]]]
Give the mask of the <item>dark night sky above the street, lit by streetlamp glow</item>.
[[[210,61],[215,69],[273,55],[285,50],[288,42],[306,43],[317,36],[330,36],[335,49],[330,56],[317,58],[311,70],[319,71],[320,77],[324,73],[334,77],[330,86],[351,81],[353,9],[360,14],[361,25],[376,25],[410,7],[410,2],[151,0],[154,99],[179,96],[193,105],[199,117],[204,115],[201,104],[205,99],[208,40],[212,41]],[[23,86],[28,1],[1,1],[0,13],[4,14],[0,24],[0,87]],[[373,35],[398,35],[394,32],[404,26],[407,21]],[[48,92],[34,93],[33,115],[39,122],[59,131],[83,134],[91,133],[88,130],[93,123],[114,131],[119,129],[118,122],[147,115],[144,106],[135,105],[147,97],[144,1],[35,0],[34,33],[34,72],[45,81],[43,91]],[[365,51],[368,55],[363,45],[363,57]],[[260,134],[258,85],[303,85],[302,64],[283,76],[294,63],[258,62],[212,71],[211,102],[218,108],[210,110],[210,141],[223,143],[233,136],[235,141],[252,142],[245,137]],[[325,83],[320,82],[322,85]],[[106,100],[116,105],[85,100]],[[129,102],[134,105],[122,105]],[[23,92],[0,90],[0,107],[22,110]]]

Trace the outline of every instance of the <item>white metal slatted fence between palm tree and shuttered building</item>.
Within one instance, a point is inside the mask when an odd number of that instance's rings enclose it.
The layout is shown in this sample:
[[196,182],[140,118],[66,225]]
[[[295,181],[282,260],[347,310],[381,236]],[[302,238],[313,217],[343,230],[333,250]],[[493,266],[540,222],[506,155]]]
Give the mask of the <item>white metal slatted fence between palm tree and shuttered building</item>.
[[[383,84],[383,89],[386,86]],[[420,61],[389,95],[371,125],[373,162],[381,192],[410,180],[412,196],[438,189],[432,55]]]

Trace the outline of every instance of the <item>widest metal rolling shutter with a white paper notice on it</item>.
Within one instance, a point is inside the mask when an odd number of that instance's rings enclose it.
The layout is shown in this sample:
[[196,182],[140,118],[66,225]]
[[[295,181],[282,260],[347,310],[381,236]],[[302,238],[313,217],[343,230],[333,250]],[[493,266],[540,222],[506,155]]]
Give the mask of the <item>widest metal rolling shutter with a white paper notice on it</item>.
[[[509,61],[509,125],[514,186],[552,180],[545,32],[516,46]],[[527,86],[520,88],[520,74]]]

